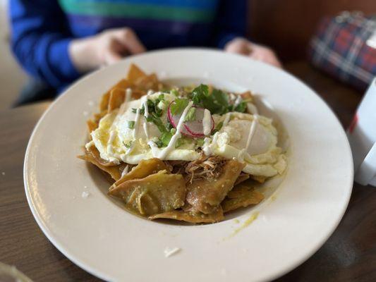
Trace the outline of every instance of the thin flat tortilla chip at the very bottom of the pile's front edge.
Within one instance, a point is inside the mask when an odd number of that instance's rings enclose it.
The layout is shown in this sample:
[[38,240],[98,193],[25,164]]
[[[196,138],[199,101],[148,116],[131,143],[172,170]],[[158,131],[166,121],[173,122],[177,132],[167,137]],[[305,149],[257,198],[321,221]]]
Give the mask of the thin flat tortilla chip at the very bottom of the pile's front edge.
[[190,223],[215,223],[224,220],[222,207],[219,206],[212,214],[202,214],[202,212],[193,209],[164,212],[163,214],[154,214],[148,219],[175,219]]

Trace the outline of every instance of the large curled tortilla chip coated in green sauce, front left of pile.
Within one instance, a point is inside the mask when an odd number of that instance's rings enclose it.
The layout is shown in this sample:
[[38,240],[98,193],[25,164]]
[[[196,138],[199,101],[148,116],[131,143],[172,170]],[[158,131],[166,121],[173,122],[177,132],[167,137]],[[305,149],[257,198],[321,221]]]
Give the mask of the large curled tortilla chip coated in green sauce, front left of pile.
[[127,180],[109,195],[119,197],[126,207],[142,216],[171,212],[183,207],[186,182],[181,174],[159,171],[145,178]]

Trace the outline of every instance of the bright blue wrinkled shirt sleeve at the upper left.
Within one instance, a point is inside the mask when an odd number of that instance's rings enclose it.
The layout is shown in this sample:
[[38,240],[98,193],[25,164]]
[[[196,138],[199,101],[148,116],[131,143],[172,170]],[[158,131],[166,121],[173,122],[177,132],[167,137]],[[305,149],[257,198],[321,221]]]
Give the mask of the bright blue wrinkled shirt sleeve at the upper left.
[[78,78],[68,46],[72,40],[56,0],[10,1],[11,48],[30,75],[53,87]]

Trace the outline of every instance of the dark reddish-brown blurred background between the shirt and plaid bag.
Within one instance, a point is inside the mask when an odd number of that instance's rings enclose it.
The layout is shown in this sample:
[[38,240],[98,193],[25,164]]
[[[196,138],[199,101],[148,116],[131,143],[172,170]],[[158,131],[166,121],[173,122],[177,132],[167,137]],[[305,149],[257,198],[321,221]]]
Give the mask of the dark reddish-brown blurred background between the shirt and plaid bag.
[[341,11],[376,15],[376,0],[250,0],[248,32],[272,46],[285,63],[304,59],[320,18]]

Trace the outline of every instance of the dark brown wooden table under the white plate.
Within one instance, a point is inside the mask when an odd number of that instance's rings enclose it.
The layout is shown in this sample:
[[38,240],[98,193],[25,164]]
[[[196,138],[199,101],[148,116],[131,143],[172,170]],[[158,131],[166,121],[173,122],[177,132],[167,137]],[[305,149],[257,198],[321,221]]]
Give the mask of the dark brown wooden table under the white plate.
[[[361,94],[305,63],[287,66],[327,101],[347,126]],[[30,133],[49,103],[0,112],[0,262],[34,281],[99,281],[72,264],[43,235],[23,187],[23,158]],[[376,281],[376,188],[354,184],[350,204],[327,243],[277,281]]]

